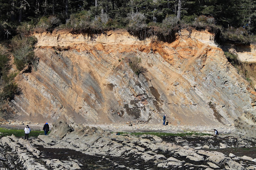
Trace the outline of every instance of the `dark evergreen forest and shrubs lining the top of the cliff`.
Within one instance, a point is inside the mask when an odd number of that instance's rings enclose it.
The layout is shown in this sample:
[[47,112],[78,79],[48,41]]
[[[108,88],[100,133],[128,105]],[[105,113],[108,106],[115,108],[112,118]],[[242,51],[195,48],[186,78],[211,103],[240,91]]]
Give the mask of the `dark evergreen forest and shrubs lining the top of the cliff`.
[[218,31],[222,40],[255,42],[254,0],[0,0],[0,38],[72,29],[170,36],[182,28]]

